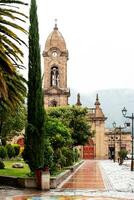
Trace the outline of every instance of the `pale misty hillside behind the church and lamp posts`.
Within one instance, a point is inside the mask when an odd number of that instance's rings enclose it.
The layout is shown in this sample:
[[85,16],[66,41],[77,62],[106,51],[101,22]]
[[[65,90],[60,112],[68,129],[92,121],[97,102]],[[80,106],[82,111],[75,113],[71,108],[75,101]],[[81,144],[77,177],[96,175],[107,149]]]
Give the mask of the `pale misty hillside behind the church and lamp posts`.
[[[126,119],[122,117],[121,110],[125,106],[128,114],[134,112],[134,89],[109,89],[99,90],[89,95],[81,94],[81,103],[83,106],[94,107],[96,94],[99,94],[101,107],[106,117],[108,117],[106,126],[112,127],[112,122],[116,121],[117,125],[123,125]],[[77,92],[71,90],[70,104],[76,103]]]

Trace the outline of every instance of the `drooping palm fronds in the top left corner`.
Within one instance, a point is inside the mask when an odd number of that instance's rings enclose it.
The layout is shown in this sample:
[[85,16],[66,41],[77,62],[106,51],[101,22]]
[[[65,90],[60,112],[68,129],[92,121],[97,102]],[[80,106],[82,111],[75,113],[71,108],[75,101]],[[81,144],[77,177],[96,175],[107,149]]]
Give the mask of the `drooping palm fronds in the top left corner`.
[[26,15],[18,11],[16,5],[19,4],[26,5],[21,0],[0,0],[0,101],[12,105],[15,100],[16,103],[21,101],[22,94],[26,92],[24,79],[17,72],[17,68],[23,65],[20,47],[25,42],[15,32],[27,33],[17,24],[26,19]]

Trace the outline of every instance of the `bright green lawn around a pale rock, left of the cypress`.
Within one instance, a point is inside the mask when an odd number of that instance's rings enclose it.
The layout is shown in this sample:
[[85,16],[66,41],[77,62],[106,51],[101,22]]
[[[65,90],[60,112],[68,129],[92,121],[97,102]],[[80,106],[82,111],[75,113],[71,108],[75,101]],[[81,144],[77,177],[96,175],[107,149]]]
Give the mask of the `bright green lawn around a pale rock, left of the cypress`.
[[[12,168],[13,163],[23,163],[24,168]],[[14,177],[28,177],[30,169],[24,161],[6,160],[4,161],[5,169],[0,169],[0,175]]]

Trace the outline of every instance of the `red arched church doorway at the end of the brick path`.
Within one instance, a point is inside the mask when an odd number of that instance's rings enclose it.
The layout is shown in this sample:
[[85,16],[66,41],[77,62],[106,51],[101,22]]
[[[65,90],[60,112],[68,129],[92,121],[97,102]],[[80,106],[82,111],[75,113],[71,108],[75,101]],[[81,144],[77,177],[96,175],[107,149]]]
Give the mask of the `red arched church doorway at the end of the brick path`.
[[95,158],[95,145],[92,139],[89,140],[88,144],[83,146],[83,159],[94,159]]

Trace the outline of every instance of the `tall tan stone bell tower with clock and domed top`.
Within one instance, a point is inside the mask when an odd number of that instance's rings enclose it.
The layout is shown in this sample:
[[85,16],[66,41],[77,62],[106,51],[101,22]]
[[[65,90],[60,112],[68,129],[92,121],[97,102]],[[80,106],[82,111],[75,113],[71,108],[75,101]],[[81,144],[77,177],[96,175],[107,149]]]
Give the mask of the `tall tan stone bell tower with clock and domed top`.
[[43,57],[45,108],[68,105],[70,96],[70,90],[67,88],[68,50],[58,30],[57,22],[46,40]]

